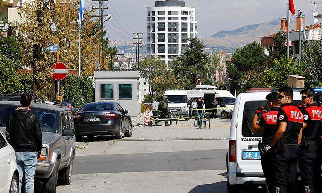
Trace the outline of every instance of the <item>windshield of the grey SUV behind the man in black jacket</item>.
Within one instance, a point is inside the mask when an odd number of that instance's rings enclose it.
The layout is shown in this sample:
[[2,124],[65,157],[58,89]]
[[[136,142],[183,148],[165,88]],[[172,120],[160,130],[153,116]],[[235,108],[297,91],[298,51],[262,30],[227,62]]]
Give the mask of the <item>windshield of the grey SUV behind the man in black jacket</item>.
[[[5,127],[8,123],[9,116],[18,106],[0,105],[0,127]],[[40,108],[30,108],[39,119],[41,131],[59,133],[58,114],[55,111],[44,110]]]

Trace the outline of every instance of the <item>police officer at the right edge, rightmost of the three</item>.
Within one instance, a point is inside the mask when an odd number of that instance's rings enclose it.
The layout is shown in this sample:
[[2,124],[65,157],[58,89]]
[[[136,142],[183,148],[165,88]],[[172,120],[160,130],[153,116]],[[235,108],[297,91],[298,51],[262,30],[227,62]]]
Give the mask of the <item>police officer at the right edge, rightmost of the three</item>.
[[322,108],[315,103],[315,91],[306,88],[301,91],[302,103],[305,105],[304,123],[301,130],[299,168],[305,193],[317,192],[319,178],[318,142],[322,130]]

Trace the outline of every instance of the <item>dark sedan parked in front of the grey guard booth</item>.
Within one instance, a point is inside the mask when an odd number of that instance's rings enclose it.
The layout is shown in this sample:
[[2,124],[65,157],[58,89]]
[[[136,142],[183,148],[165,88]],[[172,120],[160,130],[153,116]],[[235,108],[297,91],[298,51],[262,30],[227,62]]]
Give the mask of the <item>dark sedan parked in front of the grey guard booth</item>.
[[115,135],[122,139],[132,136],[132,120],[128,111],[116,102],[93,102],[85,104],[74,115],[76,139],[82,136]]

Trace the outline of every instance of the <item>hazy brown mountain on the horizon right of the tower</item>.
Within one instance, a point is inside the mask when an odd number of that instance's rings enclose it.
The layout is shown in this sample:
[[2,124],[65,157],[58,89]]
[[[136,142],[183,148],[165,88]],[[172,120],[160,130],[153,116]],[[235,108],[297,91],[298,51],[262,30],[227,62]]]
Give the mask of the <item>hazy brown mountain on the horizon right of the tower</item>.
[[[205,47],[218,47],[221,51],[234,50],[253,41],[260,42],[261,37],[276,33],[281,26],[281,20],[273,20],[260,24],[252,24],[235,30],[221,30],[216,34],[202,38]],[[291,29],[295,23],[290,23]]]

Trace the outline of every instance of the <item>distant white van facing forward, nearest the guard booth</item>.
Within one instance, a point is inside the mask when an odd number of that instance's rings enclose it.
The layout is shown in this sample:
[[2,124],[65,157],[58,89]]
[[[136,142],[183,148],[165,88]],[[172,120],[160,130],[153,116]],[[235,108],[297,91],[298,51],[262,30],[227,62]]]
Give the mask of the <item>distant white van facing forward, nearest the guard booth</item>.
[[188,97],[185,90],[166,90],[169,111],[178,112],[181,117],[188,117]]

